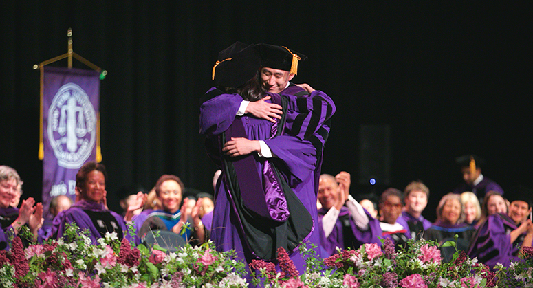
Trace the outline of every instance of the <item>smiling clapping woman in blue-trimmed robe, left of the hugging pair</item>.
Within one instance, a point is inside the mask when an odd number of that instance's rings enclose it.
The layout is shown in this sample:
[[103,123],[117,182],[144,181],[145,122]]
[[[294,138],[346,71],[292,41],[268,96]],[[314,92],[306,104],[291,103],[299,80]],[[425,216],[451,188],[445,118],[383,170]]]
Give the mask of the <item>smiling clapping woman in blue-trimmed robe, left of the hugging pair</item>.
[[[186,242],[193,244],[203,243],[206,240],[204,225],[199,217],[199,208],[202,201],[197,201],[189,215],[186,211],[188,199],[184,199],[182,209],[182,180],[175,175],[162,175],[155,184],[155,193],[161,203],[161,210],[155,210],[140,228],[139,236],[142,237],[151,230],[168,230],[180,234],[184,225],[191,225],[191,230],[186,229],[182,234]],[[191,216],[191,217],[189,217]]]

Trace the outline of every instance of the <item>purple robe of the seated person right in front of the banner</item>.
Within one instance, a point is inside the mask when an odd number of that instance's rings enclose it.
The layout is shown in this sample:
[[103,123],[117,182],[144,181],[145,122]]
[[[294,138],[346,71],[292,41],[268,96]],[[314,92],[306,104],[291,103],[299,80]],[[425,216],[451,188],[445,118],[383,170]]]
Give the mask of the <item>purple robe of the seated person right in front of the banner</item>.
[[[96,240],[102,237],[98,228],[94,225],[94,221],[97,221],[98,219],[91,219],[89,214],[85,211],[111,213],[111,216],[114,218],[112,221],[117,226],[115,230],[122,230],[122,235],[131,241],[131,236],[129,236],[129,233],[127,232],[124,218],[120,216],[120,214],[105,209],[105,206],[100,203],[85,200],[72,204],[68,210],[63,211],[56,216],[56,219],[54,219],[54,225],[58,225],[56,228],[57,239],[63,237],[65,225],[67,223],[76,223],[80,230],[89,230],[89,238],[96,244]],[[108,230],[113,230],[113,227],[108,228]]]

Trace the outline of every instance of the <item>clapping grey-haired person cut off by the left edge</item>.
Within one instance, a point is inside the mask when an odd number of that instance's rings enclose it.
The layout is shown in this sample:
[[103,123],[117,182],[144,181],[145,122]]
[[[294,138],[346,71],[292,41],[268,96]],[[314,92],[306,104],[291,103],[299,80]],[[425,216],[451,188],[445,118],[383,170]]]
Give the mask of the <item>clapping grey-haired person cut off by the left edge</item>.
[[23,239],[23,243],[28,245],[28,241],[37,241],[39,229],[43,225],[43,204],[35,203],[32,197],[23,200],[20,209],[11,206],[21,185],[17,170],[10,166],[0,166],[0,249],[6,249],[9,236],[17,236],[24,225],[30,229],[33,239]]

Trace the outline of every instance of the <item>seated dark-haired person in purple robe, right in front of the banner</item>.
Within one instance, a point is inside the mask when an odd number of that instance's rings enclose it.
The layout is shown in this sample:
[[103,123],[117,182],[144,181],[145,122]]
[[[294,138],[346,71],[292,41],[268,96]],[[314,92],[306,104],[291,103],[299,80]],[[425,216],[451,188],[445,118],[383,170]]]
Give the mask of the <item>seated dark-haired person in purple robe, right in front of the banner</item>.
[[116,232],[120,240],[129,238],[123,217],[105,206],[106,179],[103,164],[87,162],[81,166],[76,173],[76,191],[80,200],[54,219],[52,229],[56,231],[57,239],[63,236],[67,223],[75,223],[80,230],[89,230],[88,236],[93,243],[107,232]]

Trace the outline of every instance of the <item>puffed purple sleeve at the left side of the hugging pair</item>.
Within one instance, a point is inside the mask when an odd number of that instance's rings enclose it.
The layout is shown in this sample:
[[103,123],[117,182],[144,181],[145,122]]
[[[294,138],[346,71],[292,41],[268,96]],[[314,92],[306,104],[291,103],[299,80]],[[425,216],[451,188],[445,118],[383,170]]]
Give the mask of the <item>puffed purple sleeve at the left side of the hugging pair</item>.
[[[214,91],[212,88],[208,93]],[[243,98],[238,94],[224,94],[207,100],[200,105],[200,134],[219,135],[235,120]]]

